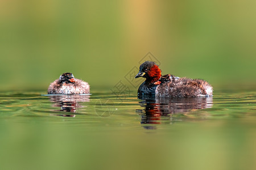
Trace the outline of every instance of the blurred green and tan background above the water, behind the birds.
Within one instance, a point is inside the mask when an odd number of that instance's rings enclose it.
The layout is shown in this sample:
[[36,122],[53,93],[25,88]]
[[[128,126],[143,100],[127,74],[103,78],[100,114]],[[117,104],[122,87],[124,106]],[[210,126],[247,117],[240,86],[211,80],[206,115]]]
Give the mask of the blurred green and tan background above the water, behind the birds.
[[[163,74],[255,84],[256,1],[0,1],[2,90],[64,72],[113,87],[148,52]],[[231,83],[232,82],[232,83]]]

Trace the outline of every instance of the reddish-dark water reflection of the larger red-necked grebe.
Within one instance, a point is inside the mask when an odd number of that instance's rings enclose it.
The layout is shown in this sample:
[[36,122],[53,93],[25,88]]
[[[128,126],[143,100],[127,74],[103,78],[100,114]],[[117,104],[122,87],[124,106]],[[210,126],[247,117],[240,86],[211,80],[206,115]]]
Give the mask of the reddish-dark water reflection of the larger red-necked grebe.
[[[141,107],[137,112],[141,114],[141,124],[170,123],[172,114],[187,113],[195,109],[211,108],[212,97],[180,97],[167,99],[142,99]],[[205,115],[196,115],[193,118],[202,118]],[[188,117],[187,117],[188,118]],[[155,129],[155,126],[144,126],[146,129]]]

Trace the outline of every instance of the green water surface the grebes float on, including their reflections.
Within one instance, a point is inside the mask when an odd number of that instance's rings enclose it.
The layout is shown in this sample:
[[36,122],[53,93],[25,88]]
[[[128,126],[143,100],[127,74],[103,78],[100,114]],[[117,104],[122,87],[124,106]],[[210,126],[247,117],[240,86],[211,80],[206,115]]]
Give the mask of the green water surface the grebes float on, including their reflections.
[[1,169],[255,169],[256,93],[1,92]]

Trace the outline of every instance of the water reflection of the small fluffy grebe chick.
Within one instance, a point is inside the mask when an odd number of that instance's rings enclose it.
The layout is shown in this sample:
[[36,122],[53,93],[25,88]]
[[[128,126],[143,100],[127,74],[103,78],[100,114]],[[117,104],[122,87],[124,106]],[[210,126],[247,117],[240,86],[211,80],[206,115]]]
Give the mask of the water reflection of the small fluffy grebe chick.
[[[49,96],[50,101],[54,103],[53,107],[60,107],[56,112],[71,112],[75,113],[77,108],[82,108],[80,103],[90,101],[89,95],[53,95]],[[53,114],[55,116],[75,117],[75,114]]]

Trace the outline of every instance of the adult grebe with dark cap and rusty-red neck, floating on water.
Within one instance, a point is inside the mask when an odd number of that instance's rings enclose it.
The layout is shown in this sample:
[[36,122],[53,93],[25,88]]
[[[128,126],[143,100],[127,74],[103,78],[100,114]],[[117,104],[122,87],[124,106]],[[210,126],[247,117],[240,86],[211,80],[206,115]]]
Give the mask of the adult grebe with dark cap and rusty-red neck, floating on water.
[[179,78],[166,74],[154,62],[146,61],[139,67],[135,76],[146,80],[139,86],[138,95],[155,95],[156,97],[199,97],[212,96],[213,88],[208,82],[201,79]]

